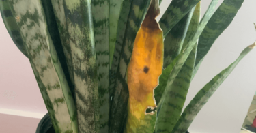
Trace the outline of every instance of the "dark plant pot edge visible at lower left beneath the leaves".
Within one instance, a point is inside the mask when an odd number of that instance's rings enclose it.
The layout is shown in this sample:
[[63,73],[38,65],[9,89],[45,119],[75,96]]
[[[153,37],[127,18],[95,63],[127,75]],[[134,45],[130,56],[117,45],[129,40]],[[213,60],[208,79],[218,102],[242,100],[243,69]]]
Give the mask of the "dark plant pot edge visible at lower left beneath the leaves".
[[55,133],[50,115],[46,113],[41,121],[38,123],[35,133]]

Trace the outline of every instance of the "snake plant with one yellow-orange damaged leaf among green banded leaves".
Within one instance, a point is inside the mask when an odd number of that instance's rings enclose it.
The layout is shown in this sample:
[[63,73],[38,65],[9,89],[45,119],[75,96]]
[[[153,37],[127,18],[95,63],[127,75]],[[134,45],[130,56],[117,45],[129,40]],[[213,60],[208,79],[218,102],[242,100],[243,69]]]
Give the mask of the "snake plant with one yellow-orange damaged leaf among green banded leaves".
[[55,132],[184,133],[256,44],[190,104],[191,80],[244,0],[0,0],[12,40],[28,57]]

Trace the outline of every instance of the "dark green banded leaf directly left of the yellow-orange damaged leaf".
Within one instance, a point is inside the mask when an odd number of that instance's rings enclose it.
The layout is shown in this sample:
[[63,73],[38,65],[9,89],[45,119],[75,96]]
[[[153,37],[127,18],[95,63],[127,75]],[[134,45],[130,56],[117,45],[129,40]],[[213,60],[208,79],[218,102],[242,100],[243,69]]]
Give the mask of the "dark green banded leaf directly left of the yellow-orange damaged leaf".
[[[132,5],[130,6],[129,11],[130,13],[127,20],[126,31],[123,37],[124,39],[120,40],[120,42],[122,42],[122,46],[120,47],[116,45],[115,48],[115,53],[117,54],[114,53],[114,56],[118,55],[118,53],[120,55],[118,60],[113,59],[113,63],[111,66],[111,70],[113,68],[113,74],[115,74],[111,75],[111,78],[113,78],[111,79],[111,83],[114,83],[114,85],[110,86],[110,89],[114,89],[113,98],[111,101],[111,132],[121,132],[122,126],[124,125],[124,116],[127,112],[128,102],[126,69],[132,55],[133,44],[137,31],[141,26],[141,23],[143,21],[143,18],[145,17],[149,5],[150,0],[132,1]],[[119,39],[120,38],[118,38],[118,41]]]

